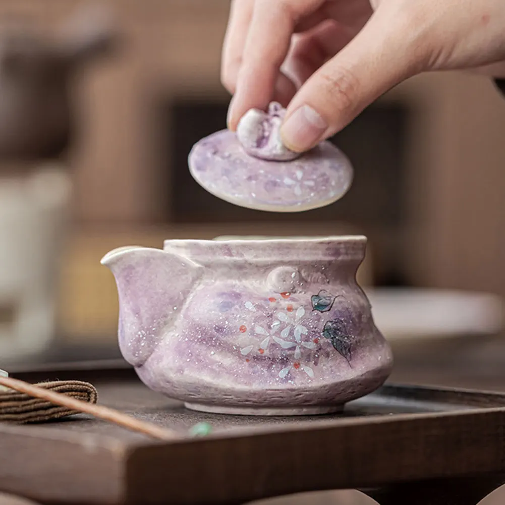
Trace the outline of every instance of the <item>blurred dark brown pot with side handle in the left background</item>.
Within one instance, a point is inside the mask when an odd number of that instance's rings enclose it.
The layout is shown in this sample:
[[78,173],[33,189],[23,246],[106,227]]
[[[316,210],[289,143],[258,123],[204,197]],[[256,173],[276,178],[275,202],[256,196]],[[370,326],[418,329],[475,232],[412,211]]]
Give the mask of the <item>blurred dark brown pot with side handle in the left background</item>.
[[70,80],[114,41],[102,9],[79,10],[55,37],[0,27],[0,159],[63,153],[73,133]]

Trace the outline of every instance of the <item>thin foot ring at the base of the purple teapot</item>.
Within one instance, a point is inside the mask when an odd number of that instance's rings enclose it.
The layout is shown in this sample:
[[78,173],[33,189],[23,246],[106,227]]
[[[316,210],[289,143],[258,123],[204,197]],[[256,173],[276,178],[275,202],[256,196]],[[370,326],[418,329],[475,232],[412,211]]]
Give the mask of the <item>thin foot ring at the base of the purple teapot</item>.
[[224,405],[204,405],[203,403],[184,402],[184,407],[209,414],[229,414],[234,416],[316,416],[343,412],[343,405],[324,407],[227,407]]

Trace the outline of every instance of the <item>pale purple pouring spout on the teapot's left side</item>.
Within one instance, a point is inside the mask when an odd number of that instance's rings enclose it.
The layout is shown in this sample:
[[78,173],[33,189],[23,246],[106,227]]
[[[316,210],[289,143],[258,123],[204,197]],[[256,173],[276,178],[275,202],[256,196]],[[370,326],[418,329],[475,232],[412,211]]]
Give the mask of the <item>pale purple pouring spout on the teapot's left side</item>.
[[143,365],[175,324],[203,267],[162,249],[126,246],[100,262],[116,280],[119,296],[119,346],[131,365]]

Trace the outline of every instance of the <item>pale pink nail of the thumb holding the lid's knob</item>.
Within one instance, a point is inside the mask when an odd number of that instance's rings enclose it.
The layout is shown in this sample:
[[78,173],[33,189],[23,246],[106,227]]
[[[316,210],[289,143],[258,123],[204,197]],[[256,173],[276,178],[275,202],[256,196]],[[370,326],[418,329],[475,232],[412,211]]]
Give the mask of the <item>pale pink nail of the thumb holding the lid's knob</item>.
[[281,138],[289,149],[303,152],[310,149],[327,128],[328,124],[317,111],[302,105],[282,125]]

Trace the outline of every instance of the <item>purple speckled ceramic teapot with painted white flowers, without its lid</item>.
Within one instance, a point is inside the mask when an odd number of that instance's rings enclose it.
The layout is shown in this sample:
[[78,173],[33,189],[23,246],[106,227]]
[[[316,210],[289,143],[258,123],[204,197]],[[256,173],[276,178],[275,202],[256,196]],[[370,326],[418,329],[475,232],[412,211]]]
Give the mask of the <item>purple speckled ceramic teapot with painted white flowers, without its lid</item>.
[[356,283],[366,238],[167,240],[102,264],[119,292],[119,344],[151,389],[195,410],[335,412],[392,367]]

